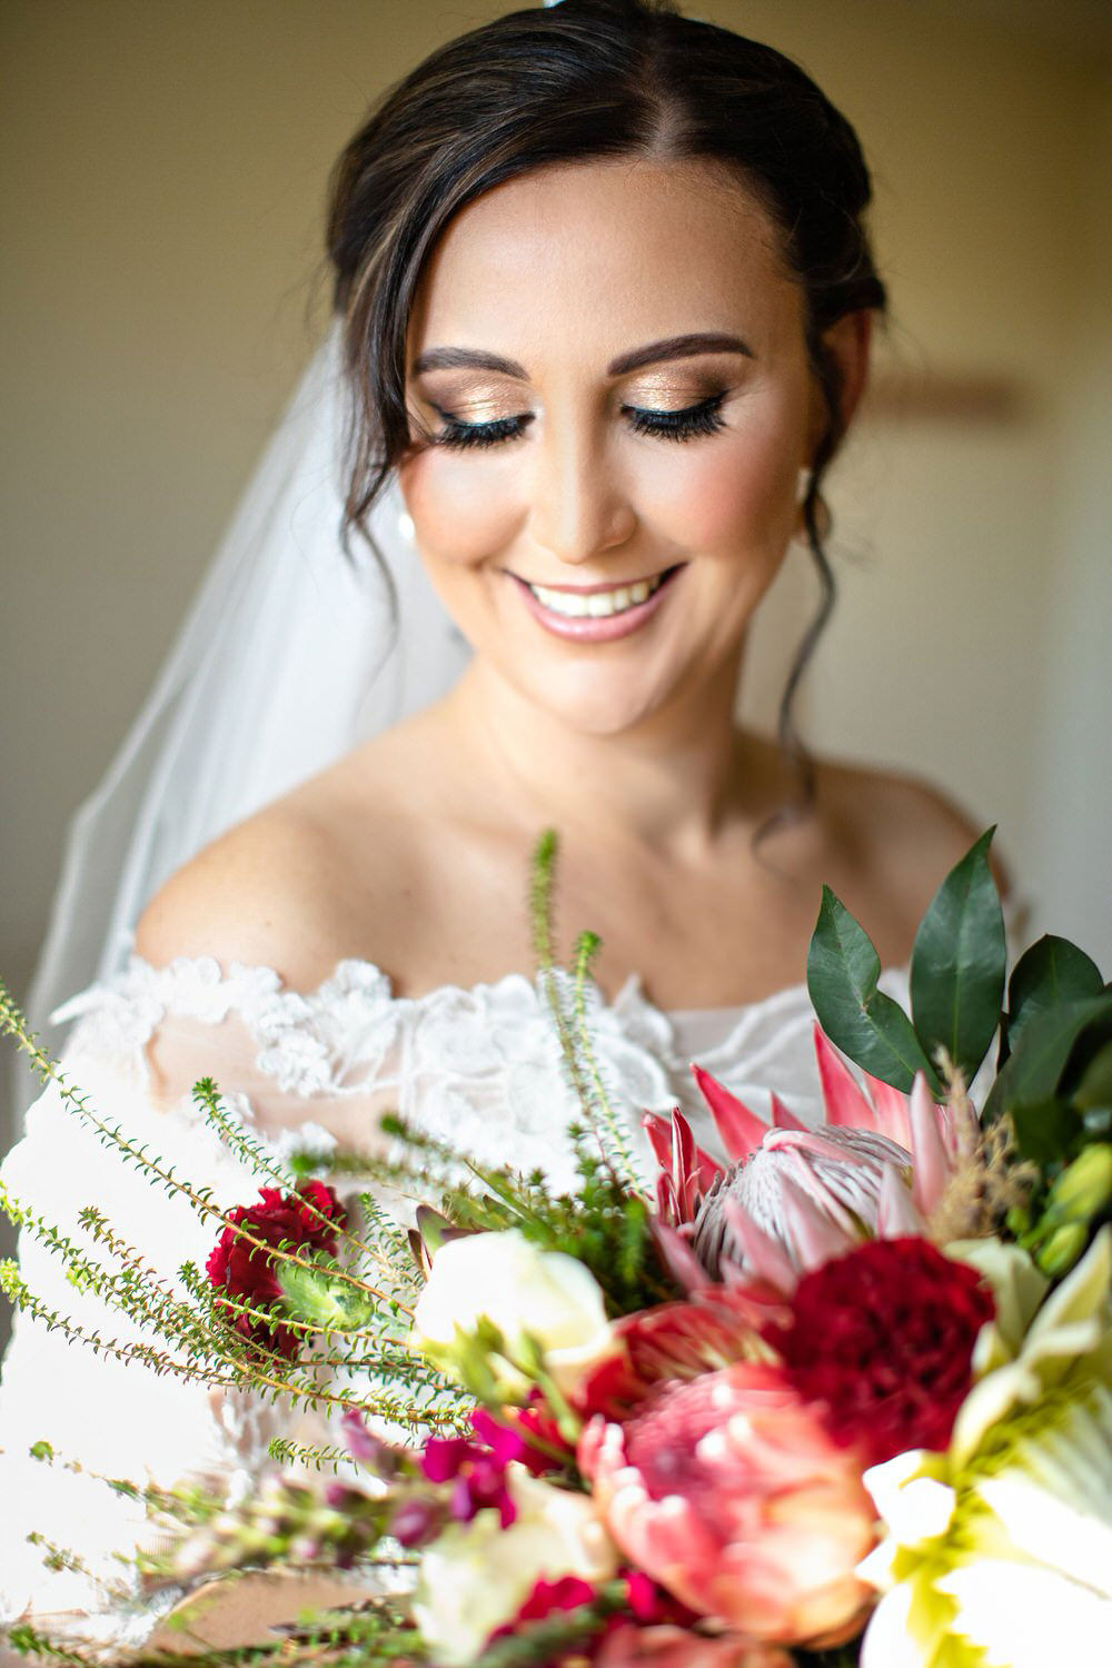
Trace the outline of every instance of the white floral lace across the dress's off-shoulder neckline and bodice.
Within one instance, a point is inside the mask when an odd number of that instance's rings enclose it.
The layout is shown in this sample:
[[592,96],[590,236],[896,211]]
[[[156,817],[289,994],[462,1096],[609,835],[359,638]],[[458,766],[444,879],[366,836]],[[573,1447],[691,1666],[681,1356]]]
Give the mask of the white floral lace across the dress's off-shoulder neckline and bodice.
[[[904,969],[889,971],[884,986],[905,999]],[[400,997],[380,967],[357,957],[340,961],[313,991],[298,992],[270,967],[232,962],[223,969],[212,956],[153,967],[132,956],[113,981],[85,991],[53,1017],[80,1021],[68,1054],[123,1054],[142,1063],[165,1019],[218,1026],[232,1014],[250,1032],[257,1069],[285,1094],[373,1091],[392,1098],[417,1128],[477,1159],[500,1164],[510,1156],[522,1171],[572,1181],[565,1131],[582,1109],[567,1083],[542,976],[505,974],[488,984]],[[755,1111],[767,1113],[775,1089],[812,1121],[819,1084],[807,987],[777,991],[724,1017],[727,1034],[700,1049],[700,1063]],[[647,999],[639,976],[612,1002],[590,984],[587,1022],[604,1084],[637,1139],[644,1111],[667,1113],[677,1104],[710,1138],[677,1029]],[[327,1148],[332,1139],[313,1124],[275,1143],[262,1136],[247,1098],[232,1096],[230,1104],[275,1156]]]

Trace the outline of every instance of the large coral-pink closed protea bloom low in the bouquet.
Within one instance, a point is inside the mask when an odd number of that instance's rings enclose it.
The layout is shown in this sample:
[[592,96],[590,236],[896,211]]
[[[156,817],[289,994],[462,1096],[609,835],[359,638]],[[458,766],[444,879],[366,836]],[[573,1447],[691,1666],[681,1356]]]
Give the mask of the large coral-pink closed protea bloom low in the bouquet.
[[777,1366],[662,1384],[625,1424],[597,1414],[579,1463],[619,1548],[697,1615],[755,1645],[822,1648],[864,1625],[860,1456]]

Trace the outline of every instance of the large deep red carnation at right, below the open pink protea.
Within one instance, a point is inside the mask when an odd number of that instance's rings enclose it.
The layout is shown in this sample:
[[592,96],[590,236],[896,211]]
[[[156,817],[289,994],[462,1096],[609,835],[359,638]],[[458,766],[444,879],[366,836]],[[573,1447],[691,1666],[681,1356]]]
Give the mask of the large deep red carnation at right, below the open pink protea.
[[837,1443],[870,1465],[945,1448],[972,1383],[977,1333],[995,1314],[977,1269],[927,1239],[875,1239],[795,1288],[792,1319],[765,1336]]

